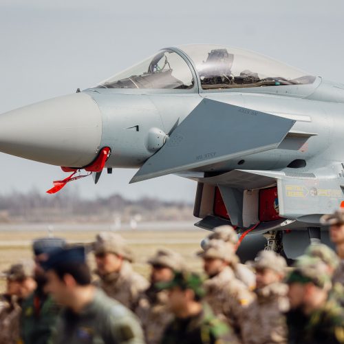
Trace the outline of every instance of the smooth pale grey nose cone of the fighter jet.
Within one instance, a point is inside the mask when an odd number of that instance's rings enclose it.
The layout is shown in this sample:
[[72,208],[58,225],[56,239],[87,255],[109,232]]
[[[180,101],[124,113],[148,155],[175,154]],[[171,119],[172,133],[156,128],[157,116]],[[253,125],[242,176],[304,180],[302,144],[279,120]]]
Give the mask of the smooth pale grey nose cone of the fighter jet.
[[0,115],[0,151],[57,166],[96,158],[102,134],[98,106],[81,92]]

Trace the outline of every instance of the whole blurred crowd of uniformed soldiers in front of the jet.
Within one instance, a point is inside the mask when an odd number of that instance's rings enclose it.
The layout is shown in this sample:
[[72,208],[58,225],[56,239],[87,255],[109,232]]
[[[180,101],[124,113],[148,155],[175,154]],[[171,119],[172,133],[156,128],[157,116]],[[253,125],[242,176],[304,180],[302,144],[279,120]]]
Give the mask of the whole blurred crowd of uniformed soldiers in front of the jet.
[[204,274],[162,248],[147,262],[149,281],[116,233],[88,249],[37,239],[34,266],[3,272],[0,344],[344,343],[344,212],[322,221],[336,252],[309,246],[291,268],[270,250],[240,264],[237,233],[221,226],[197,254]]

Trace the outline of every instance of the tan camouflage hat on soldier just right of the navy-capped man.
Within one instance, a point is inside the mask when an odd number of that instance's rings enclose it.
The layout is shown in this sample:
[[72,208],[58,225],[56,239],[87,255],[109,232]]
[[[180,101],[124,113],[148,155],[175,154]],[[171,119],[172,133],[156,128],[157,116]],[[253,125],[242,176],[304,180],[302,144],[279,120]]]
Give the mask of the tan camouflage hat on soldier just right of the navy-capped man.
[[128,261],[133,261],[133,254],[127,246],[123,237],[116,233],[102,232],[96,236],[96,241],[92,244],[95,255],[104,253],[114,253],[120,255]]

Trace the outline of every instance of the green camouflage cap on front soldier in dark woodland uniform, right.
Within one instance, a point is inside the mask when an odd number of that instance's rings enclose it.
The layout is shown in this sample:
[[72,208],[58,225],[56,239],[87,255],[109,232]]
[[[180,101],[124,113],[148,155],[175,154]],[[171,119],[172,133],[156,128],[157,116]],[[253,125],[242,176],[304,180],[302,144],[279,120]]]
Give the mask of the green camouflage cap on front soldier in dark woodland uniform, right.
[[330,290],[331,277],[327,272],[326,264],[318,257],[301,256],[294,264],[286,283],[313,283],[315,286]]

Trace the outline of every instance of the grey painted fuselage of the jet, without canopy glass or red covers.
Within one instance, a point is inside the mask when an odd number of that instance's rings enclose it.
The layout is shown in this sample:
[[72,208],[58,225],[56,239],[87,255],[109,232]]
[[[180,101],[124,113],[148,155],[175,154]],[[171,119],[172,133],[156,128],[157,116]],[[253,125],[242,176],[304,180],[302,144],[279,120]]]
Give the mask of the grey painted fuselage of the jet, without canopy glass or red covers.
[[[276,184],[288,228],[320,226],[344,200],[344,85],[316,77],[205,90],[192,58],[169,50],[189,66],[190,89],[95,87],[9,111],[0,116],[0,151],[83,168],[110,147],[106,166],[140,168],[133,182],[178,173],[219,186],[239,226],[242,191]],[[288,167],[293,160],[305,166]],[[284,228],[282,219],[257,231]]]

